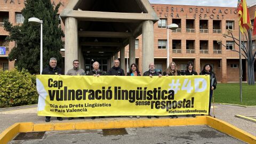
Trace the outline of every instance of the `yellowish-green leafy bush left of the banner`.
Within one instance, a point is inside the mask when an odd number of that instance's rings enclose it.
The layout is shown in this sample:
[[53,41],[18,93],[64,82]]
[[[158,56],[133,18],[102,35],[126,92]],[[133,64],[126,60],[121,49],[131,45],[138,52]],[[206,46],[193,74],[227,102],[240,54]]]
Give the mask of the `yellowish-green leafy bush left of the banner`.
[[37,100],[36,75],[25,69],[0,69],[0,107],[31,105]]

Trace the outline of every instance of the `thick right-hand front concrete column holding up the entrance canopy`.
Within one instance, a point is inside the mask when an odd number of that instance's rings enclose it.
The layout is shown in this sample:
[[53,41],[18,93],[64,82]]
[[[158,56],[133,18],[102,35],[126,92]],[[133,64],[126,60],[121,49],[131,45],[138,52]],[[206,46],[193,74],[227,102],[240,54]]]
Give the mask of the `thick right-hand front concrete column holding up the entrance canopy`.
[[148,70],[148,65],[154,62],[154,27],[153,21],[142,22],[142,71]]

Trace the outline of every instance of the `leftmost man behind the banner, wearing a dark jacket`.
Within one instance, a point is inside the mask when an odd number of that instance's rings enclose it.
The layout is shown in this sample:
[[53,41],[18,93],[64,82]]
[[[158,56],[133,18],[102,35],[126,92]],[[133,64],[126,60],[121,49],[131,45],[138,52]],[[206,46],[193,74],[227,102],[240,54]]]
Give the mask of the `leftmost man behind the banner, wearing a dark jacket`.
[[[51,58],[49,66],[42,71],[42,75],[63,75],[62,69],[57,67],[57,59]],[[45,117],[45,122],[50,122],[50,116]],[[59,121],[62,121],[62,117],[57,117]]]

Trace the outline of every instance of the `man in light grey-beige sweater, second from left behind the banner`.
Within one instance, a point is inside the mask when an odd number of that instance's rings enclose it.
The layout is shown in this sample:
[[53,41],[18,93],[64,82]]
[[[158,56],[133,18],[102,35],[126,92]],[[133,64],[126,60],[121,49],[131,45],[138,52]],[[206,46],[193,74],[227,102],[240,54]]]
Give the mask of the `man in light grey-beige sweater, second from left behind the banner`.
[[[70,76],[79,76],[85,75],[85,71],[82,68],[79,68],[79,60],[73,61],[73,69],[69,69],[67,75]],[[79,117],[80,119],[84,119],[84,117]],[[74,119],[74,117],[69,117],[68,120]]]

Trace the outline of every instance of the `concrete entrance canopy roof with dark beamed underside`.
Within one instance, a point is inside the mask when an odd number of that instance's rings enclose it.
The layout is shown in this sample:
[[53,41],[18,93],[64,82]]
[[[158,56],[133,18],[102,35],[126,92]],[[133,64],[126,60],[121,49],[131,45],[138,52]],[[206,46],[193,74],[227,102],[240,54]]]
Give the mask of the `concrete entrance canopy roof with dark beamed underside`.
[[78,46],[85,57],[106,58],[141,35],[143,21],[159,20],[148,0],[72,0],[60,16],[77,20]]

